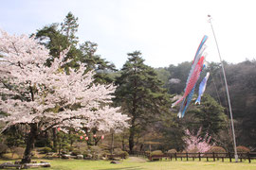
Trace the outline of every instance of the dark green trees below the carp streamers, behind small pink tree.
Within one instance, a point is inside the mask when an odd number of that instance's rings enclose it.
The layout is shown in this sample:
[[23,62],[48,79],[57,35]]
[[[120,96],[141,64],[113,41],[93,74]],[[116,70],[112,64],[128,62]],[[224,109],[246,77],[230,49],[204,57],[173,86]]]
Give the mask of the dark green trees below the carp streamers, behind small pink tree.
[[[227,116],[224,113],[224,108],[207,93],[202,96],[200,105],[194,105],[193,103],[194,100],[192,100],[189,110],[187,110],[182,119],[176,117],[178,110],[174,110],[173,117],[163,118],[162,127],[159,129],[165,136],[163,140],[165,148],[175,148],[177,151],[183,150],[185,144],[182,139],[185,135],[184,131],[187,128],[190,131],[196,132],[202,127],[202,138],[208,133],[212,139],[211,142],[215,142],[216,144],[222,144],[224,142],[224,140],[220,140],[219,138],[220,131],[222,129],[228,129]],[[177,109],[179,108],[177,107]]]

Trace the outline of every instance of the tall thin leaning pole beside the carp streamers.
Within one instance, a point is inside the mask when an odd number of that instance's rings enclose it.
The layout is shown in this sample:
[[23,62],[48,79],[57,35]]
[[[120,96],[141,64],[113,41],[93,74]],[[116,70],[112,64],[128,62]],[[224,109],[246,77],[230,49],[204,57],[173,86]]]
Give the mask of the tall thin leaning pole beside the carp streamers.
[[221,67],[222,67],[222,72],[223,72],[223,76],[224,76],[225,86],[226,86],[226,92],[227,92],[227,95],[228,95],[230,122],[231,122],[231,127],[232,127],[233,143],[234,143],[234,152],[235,152],[235,153],[234,153],[234,157],[235,157],[235,161],[237,162],[237,161],[238,161],[238,155],[237,155],[236,142],[235,142],[235,132],[234,132],[233,114],[232,114],[232,109],[231,109],[231,104],[230,104],[230,98],[229,98],[229,88],[228,88],[228,83],[227,83],[227,78],[226,78],[226,74],[225,74],[225,69],[224,69],[223,61],[222,61],[222,59],[221,59],[221,54],[220,54],[218,42],[217,42],[217,39],[216,39],[214,30],[213,30],[213,26],[212,26],[212,24],[211,24],[211,19],[212,19],[212,18],[211,18],[210,15],[208,15],[208,17],[209,17],[209,23],[210,23],[211,30],[212,30],[212,33],[213,33],[213,37],[214,37],[214,40],[215,40],[215,43],[216,43],[216,46],[217,46],[217,50],[218,50],[218,54],[219,54],[219,58],[220,58],[220,62],[221,62]]

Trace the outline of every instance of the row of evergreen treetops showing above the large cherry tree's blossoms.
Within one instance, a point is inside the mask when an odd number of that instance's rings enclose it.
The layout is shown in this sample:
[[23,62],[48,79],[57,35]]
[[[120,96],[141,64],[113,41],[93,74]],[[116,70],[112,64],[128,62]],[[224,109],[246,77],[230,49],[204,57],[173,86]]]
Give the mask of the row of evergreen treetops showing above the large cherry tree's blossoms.
[[65,60],[70,59],[70,61],[64,66],[67,73],[68,68],[79,68],[82,62],[87,66],[86,71],[95,70],[96,83],[112,83],[114,79],[109,75],[116,71],[115,65],[96,54],[98,44],[95,42],[83,42],[79,48],[77,47],[78,26],[78,18],[69,12],[64,18],[64,23],[51,24],[37,30],[36,38],[46,45],[53,57],[47,59],[46,64],[50,65],[54,58],[59,58],[64,49],[69,48]]

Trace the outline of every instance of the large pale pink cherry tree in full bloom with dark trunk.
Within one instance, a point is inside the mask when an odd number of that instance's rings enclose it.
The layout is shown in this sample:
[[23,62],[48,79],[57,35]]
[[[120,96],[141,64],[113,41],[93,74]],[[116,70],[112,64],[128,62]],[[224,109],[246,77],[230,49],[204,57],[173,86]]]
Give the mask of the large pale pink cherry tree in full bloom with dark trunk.
[[68,50],[54,59],[50,67],[49,51],[34,38],[12,36],[1,30],[0,37],[0,110],[8,116],[0,120],[9,126],[30,127],[22,162],[31,161],[36,137],[52,127],[97,128],[108,131],[128,127],[127,115],[112,108],[112,84],[93,84],[94,73],[79,69],[64,71]]

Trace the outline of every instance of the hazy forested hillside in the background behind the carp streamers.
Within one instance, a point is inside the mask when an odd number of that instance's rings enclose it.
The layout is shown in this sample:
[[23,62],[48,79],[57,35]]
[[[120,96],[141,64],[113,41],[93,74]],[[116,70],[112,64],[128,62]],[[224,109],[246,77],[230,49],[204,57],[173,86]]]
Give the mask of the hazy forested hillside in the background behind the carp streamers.
[[[156,71],[169,93],[183,93],[191,62],[182,62],[176,66],[157,68]],[[229,94],[235,132],[238,145],[256,147],[256,61],[246,60],[237,64],[225,62],[226,76],[229,84]],[[220,63],[210,62],[202,76],[210,72],[206,93],[210,94],[218,104],[225,108],[229,117],[229,106],[225,83]],[[200,80],[199,80],[200,81]],[[196,90],[197,92],[197,90]],[[189,113],[187,116],[190,116]],[[185,118],[186,119],[186,118]],[[228,126],[229,127],[229,126]],[[230,129],[223,129],[230,132]],[[224,133],[225,134],[225,133]]]

